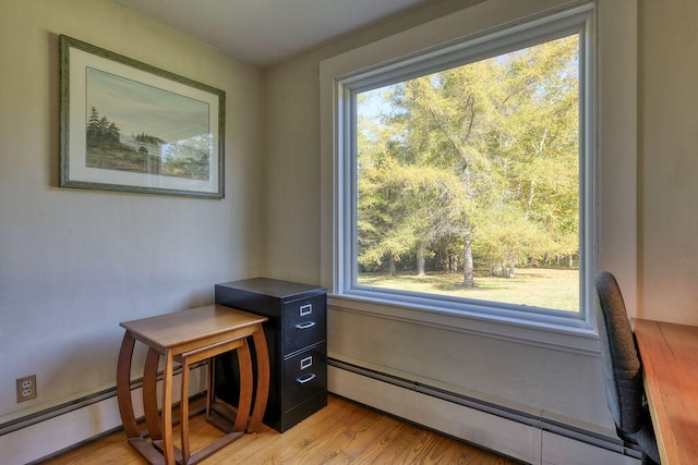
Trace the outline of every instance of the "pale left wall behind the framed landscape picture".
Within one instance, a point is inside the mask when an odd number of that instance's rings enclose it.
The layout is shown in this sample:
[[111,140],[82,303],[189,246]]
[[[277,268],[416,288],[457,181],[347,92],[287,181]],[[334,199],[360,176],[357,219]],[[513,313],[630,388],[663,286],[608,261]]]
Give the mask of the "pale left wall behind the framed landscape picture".
[[[226,91],[224,200],[57,186],[60,34]],[[112,388],[120,321],[262,274],[264,205],[260,70],[106,0],[0,1],[0,58],[2,424]]]

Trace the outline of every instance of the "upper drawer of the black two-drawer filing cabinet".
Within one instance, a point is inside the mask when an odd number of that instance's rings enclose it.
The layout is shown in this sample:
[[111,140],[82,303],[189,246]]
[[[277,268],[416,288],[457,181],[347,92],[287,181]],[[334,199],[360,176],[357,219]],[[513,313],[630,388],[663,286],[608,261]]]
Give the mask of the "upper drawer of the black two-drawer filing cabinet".
[[282,353],[291,354],[320,341],[327,334],[326,297],[315,295],[284,304]]

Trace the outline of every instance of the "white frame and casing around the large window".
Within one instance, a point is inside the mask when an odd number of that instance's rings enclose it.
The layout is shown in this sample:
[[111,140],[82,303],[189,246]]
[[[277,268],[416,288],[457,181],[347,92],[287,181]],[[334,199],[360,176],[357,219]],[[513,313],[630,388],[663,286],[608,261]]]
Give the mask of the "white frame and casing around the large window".
[[[600,268],[601,260],[599,255],[605,252],[609,247],[621,246],[621,248],[628,249],[635,244],[634,235],[634,217],[625,216],[618,218],[617,224],[611,224],[616,227],[617,231],[629,233],[624,243],[621,243],[616,238],[616,231],[609,234],[606,230],[609,225],[601,228],[599,218],[606,218],[609,215],[606,211],[601,212],[601,201],[598,195],[598,191],[601,191],[607,182],[602,183],[598,180],[599,171],[602,169],[609,169],[615,172],[621,166],[629,167],[627,175],[624,175],[624,182],[627,188],[624,189],[623,196],[627,200],[635,194],[636,186],[631,183],[631,175],[634,173],[635,160],[630,157],[634,156],[633,147],[636,136],[635,129],[631,127],[631,122],[636,121],[635,109],[636,101],[633,100],[633,78],[636,77],[637,70],[633,70],[631,66],[636,65],[637,51],[636,37],[627,34],[623,36],[616,35],[613,40],[614,34],[609,34],[611,25],[621,21],[624,24],[636,24],[637,21],[637,5],[634,0],[628,0],[622,4],[604,5],[603,15],[601,14],[601,8],[593,1],[561,1],[556,5],[550,5],[550,2],[539,2],[540,4],[530,4],[528,11],[507,12],[504,15],[504,20],[496,19],[494,21],[481,22],[481,24],[467,24],[465,29],[470,28],[471,32],[464,34],[459,37],[442,37],[438,41],[440,33],[435,32],[434,25],[440,23],[433,22],[429,25],[418,26],[414,29],[410,29],[407,33],[398,34],[378,42],[374,42],[371,46],[364,46],[361,50],[352,50],[344,53],[342,56],[335,57],[321,63],[321,148],[323,150],[322,160],[323,167],[321,170],[325,174],[329,174],[332,170],[332,176],[323,179],[323,192],[332,195],[322,201],[323,217],[321,222],[323,225],[323,241],[321,247],[322,262],[321,262],[321,279],[324,285],[329,290],[329,307],[338,310],[354,311],[366,315],[378,316],[383,318],[397,319],[404,321],[410,321],[420,325],[428,325],[433,327],[442,327],[445,329],[452,329],[456,331],[470,332],[484,334],[495,338],[502,338],[507,340],[521,341],[526,343],[532,343],[534,345],[555,346],[562,350],[571,350],[575,352],[590,352],[595,353],[598,348],[597,334],[593,323],[593,272],[597,268]],[[529,7],[526,5],[526,7]],[[478,5],[479,8],[480,5]],[[526,7],[517,3],[516,7],[526,10]],[[467,9],[472,10],[473,8]],[[494,16],[500,14],[502,7],[501,2],[485,1],[482,5],[483,10],[489,10],[491,14],[495,11]],[[455,17],[454,21],[460,21],[467,23],[470,17],[473,17],[473,22],[482,20],[478,19],[477,14],[482,13],[479,11],[471,16],[466,16],[464,13],[459,17]],[[517,15],[518,14],[518,15]],[[453,16],[458,16],[455,14]],[[508,16],[508,17],[507,17]],[[341,157],[353,139],[353,135],[345,137],[341,131],[337,127],[346,125],[351,118],[351,105],[350,99],[347,98],[347,86],[352,85],[361,79],[365,79],[366,76],[373,81],[361,81],[362,86],[354,86],[354,88],[378,87],[382,82],[378,77],[382,69],[386,66],[398,70],[400,63],[409,63],[413,65],[414,62],[423,60],[425,56],[438,57],[453,52],[458,47],[465,47],[467,44],[469,47],[473,45],[484,44],[492,40],[506,40],[517,34],[532,32],[532,36],[537,35],[535,28],[544,24],[553,24],[552,29],[547,29],[545,34],[551,34],[550,30],[561,29],[566,26],[559,26],[564,22],[579,21],[579,16],[583,16],[583,41],[585,53],[580,54],[580,70],[583,68],[583,74],[588,77],[583,85],[580,83],[581,100],[583,102],[583,111],[580,114],[580,123],[589,130],[583,134],[580,140],[580,146],[583,145],[583,150],[588,150],[590,155],[585,157],[585,163],[580,167],[583,170],[583,175],[587,179],[587,188],[582,193],[581,205],[581,218],[580,223],[585,224],[588,232],[583,234],[582,242],[580,242],[580,248],[583,249],[587,258],[585,260],[586,266],[580,269],[580,273],[583,273],[585,282],[585,303],[580,308],[579,314],[561,315],[555,311],[547,313],[529,313],[519,311],[512,308],[493,308],[489,305],[481,305],[481,303],[469,302],[458,305],[443,305],[442,299],[429,299],[422,296],[406,296],[404,298],[396,299],[393,293],[385,292],[369,292],[361,289],[351,289],[350,282],[347,281],[348,267],[352,266],[351,256],[348,256],[346,250],[340,246],[344,241],[347,241],[347,223],[348,215],[351,215],[352,206],[348,204],[349,199],[356,198],[354,195],[346,196],[348,187],[348,181],[346,178],[347,170],[351,170],[350,157]],[[573,20],[570,20],[573,19]],[[449,21],[449,20],[448,20]],[[558,24],[555,26],[554,24]],[[604,37],[605,49],[609,52],[605,57],[601,57],[598,50],[598,40],[600,25],[605,25],[606,32]],[[434,36],[436,36],[432,44],[426,40],[425,46],[414,47],[410,45],[396,46],[397,41],[411,40],[416,37],[417,29],[429,29]],[[447,34],[447,33],[446,33]],[[452,33],[453,35],[453,33]],[[540,36],[541,33],[538,33]],[[519,36],[521,37],[521,36]],[[618,37],[628,37],[628,40],[618,42]],[[514,40],[521,44],[525,39]],[[529,40],[533,40],[529,37]],[[413,39],[419,42],[420,40]],[[535,42],[535,40],[533,40]],[[540,40],[539,40],[540,41]],[[419,50],[417,52],[409,51],[409,47],[412,50]],[[366,48],[377,50],[373,53],[375,57],[365,59]],[[402,54],[390,54],[388,50],[395,49],[408,49]],[[489,56],[493,54],[491,52]],[[605,71],[603,78],[599,77],[600,71],[598,68],[601,62],[606,63],[609,60],[617,60],[617,57],[624,53],[623,65],[617,70]],[[496,53],[494,53],[496,54]],[[474,61],[474,60],[473,60]],[[629,71],[624,73],[624,68]],[[448,68],[447,65],[445,68]],[[612,66],[606,65],[606,70],[611,70]],[[358,70],[358,71],[357,71]],[[404,72],[404,71],[402,71]],[[406,75],[407,73],[405,73]],[[389,81],[389,79],[388,79]],[[601,111],[598,102],[601,101],[598,95],[598,81],[609,82],[607,88],[622,88],[623,93],[617,94],[617,97],[606,97],[611,102],[606,106],[605,111]],[[385,79],[383,79],[385,82]],[[365,86],[363,84],[366,84]],[[629,84],[629,85],[628,85]],[[627,89],[627,91],[625,91]],[[625,107],[618,107],[618,102],[627,103]],[[621,113],[625,114],[627,119],[627,125],[625,121],[619,120],[611,123],[602,124],[599,121],[601,113],[614,113],[618,108],[623,108]],[[610,120],[609,120],[610,121]],[[329,125],[332,124],[332,127]],[[599,134],[598,127],[601,126],[616,126],[621,124],[623,131],[614,133],[613,136],[605,136],[605,139]],[[606,132],[606,134],[611,134]],[[610,140],[610,142],[609,142]],[[614,146],[618,143],[628,144],[628,149],[623,150],[612,161],[599,162],[597,160],[601,150],[606,146]],[[350,147],[349,147],[350,148]],[[603,185],[602,185],[603,184]],[[615,194],[615,193],[613,193]],[[615,200],[611,201],[613,209],[617,208]],[[330,225],[332,223],[332,225]],[[603,231],[601,231],[603,229]],[[600,236],[606,235],[612,241],[606,241],[606,244],[601,244]],[[621,249],[618,248],[618,249]],[[332,259],[329,259],[332,257]],[[615,261],[615,257],[612,257]],[[628,266],[623,264],[623,268],[631,268],[631,260],[626,260]],[[609,262],[609,260],[605,260]],[[635,274],[630,274],[630,278],[636,278]],[[630,299],[633,298],[633,292],[635,291],[635,282],[630,283]],[[633,301],[634,302],[634,301]],[[484,304],[484,303],[482,303]]]

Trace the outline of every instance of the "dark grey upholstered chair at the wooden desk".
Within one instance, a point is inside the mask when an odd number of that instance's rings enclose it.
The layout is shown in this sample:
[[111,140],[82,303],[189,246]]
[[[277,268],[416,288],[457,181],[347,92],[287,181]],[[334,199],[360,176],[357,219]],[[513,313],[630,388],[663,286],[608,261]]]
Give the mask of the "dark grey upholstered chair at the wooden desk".
[[639,446],[642,463],[659,464],[657,439],[642,387],[642,367],[621,289],[607,271],[597,274],[595,286],[603,382],[617,435]]

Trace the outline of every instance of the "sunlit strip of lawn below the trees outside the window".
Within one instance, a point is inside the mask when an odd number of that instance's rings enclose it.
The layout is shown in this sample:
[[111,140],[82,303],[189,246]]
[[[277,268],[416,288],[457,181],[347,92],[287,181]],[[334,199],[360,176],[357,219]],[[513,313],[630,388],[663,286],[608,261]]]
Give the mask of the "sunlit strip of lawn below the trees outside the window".
[[444,294],[508,304],[531,305],[566,311],[579,311],[579,270],[528,268],[517,269],[514,278],[476,277],[476,289],[460,286],[462,274],[361,273],[359,284],[402,291]]

